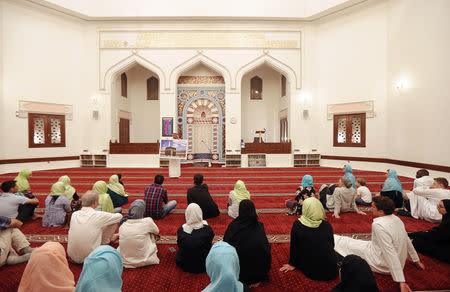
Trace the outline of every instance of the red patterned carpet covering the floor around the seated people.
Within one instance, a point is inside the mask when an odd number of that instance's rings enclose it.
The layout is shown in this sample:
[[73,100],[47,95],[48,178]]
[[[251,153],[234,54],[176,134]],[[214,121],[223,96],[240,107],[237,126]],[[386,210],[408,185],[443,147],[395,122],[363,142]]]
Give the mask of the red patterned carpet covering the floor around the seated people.
[[[115,173],[123,174],[123,181],[128,193],[130,203],[136,199],[143,198],[145,186],[153,181],[157,173],[168,175],[167,169],[142,169],[142,168],[73,168],[63,170],[37,171],[33,173],[30,180],[32,190],[40,200],[39,207],[44,207],[44,200],[48,194],[51,184],[59,176],[69,175],[74,187],[79,193],[88,190],[92,184],[100,179],[108,182],[109,176]],[[259,219],[264,223],[266,233],[272,246],[272,269],[270,271],[270,282],[264,283],[254,291],[330,291],[338,280],[331,282],[318,282],[306,278],[301,272],[280,273],[278,269],[287,262],[289,257],[289,234],[296,216],[284,214],[284,202],[294,197],[301,177],[311,174],[314,177],[316,190],[322,183],[335,183],[343,175],[341,169],[316,167],[316,168],[182,168],[182,177],[178,179],[166,179],[165,187],[168,189],[169,200],[175,199],[178,206],[174,214],[169,214],[163,220],[157,220],[162,239],[158,242],[158,257],[160,264],[157,266],[125,269],[122,275],[123,291],[200,291],[207,286],[209,279],[206,273],[193,275],[184,273],[175,265],[176,231],[184,222],[183,209],[186,208],[187,188],[192,186],[192,176],[195,173],[203,173],[205,183],[210,186],[210,191],[219,208],[226,208],[227,194],[232,190],[237,179],[246,182],[252,193],[252,200],[260,212]],[[383,173],[374,171],[355,170],[356,177],[364,177],[372,192],[380,190],[385,176]],[[12,179],[15,173],[2,174],[0,180]],[[412,188],[413,179],[400,177],[405,189]],[[130,204],[124,206],[128,209]],[[367,210],[365,208],[364,210]],[[43,210],[40,209],[39,212]],[[333,226],[336,234],[353,235],[357,238],[367,239],[370,237],[373,215],[366,211],[367,216],[355,213],[343,214],[340,219],[327,214],[327,220]],[[427,230],[436,224],[416,220],[413,218],[400,217],[409,232]],[[227,214],[209,219],[208,223],[220,240],[224,234],[231,218]],[[28,222],[22,227],[22,231],[30,238],[32,246],[40,246],[42,241],[52,238],[66,245],[67,231],[61,228],[45,228],[41,226],[41,220]],[[418,270],[413,264],[405,266],[405,276],[413,290],[442,290],[450,289],[450,265],[420,255],[426,270]],[[78,279],[82,266],[70,264],[70,268]],[[25,264],[15,266],[4,266],[0,268],[0,291],[16,291],[22,276]],[[398,285],[392,281],[390,276],[375,274],[381,291],[398,291]]]

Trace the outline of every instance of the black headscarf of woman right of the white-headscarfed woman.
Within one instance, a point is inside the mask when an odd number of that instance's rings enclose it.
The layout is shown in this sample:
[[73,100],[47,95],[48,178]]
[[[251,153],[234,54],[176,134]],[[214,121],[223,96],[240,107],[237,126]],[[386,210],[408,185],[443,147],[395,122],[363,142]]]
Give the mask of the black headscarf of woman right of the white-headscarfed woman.
[[227,228],[223,240],[226,242],[235,241],[239,234],[248,230],[258,228],[258,215],[255,205],[250,200],[242,200],[239,204],[239,216],[234,219]]

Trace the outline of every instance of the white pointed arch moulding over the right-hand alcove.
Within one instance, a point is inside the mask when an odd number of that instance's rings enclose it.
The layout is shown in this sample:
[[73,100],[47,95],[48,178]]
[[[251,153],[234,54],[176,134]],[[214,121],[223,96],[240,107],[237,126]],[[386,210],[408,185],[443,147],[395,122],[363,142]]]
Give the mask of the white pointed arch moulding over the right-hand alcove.
[[239,70],[236,72],[235,88],[237,89],[237,91],[241,91],[241,83],[244,75],[263,64],[269,65],[275,71],[278,71],[279,73],[286,76],[289,82],[295,84],[297,89],[300,89],[300,79],[295,71],[280,60],[270,56],[267,53],[264,53],[263,55],[239,68]]

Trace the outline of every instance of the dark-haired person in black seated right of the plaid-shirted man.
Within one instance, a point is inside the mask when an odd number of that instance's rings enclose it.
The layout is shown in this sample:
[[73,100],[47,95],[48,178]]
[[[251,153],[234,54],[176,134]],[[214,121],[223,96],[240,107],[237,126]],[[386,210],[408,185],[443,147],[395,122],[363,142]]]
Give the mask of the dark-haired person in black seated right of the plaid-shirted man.
[[202,209],[204,219],[219,216],[219,208],[209,193],[208,185],[203,183],[203,175],[194,175],[194,185],[187,192],[188,205],[191,203],[198,204]]

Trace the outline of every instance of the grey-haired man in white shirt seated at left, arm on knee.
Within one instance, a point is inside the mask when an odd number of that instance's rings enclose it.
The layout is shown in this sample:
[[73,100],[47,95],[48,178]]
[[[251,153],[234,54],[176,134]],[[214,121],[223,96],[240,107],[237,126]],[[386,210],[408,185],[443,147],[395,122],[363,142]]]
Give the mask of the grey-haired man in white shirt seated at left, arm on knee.
[[84,259],[101,244],[117,240],[114,234],[121,214],[96,211],[98,193],[88,191],[81,198],[83,208],[72,214],[67,242],[67,254],[76,263]]

